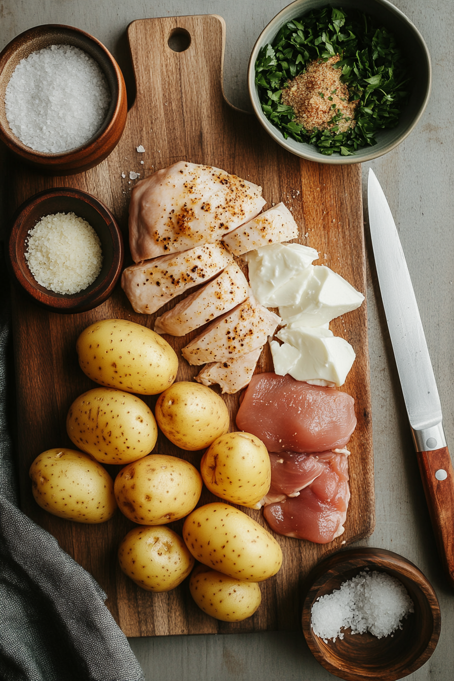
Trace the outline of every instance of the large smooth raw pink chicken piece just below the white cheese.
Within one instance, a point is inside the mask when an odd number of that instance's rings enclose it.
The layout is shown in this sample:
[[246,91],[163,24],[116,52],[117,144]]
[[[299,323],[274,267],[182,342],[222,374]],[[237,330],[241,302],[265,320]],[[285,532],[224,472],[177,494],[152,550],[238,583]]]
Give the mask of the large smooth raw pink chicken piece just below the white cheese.
[[353,397],[334,387],[295,381],[288,374],[253,376],[236,416],[239,430],[268,452],[326,452],[344,447],[355,430]]

